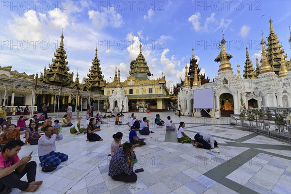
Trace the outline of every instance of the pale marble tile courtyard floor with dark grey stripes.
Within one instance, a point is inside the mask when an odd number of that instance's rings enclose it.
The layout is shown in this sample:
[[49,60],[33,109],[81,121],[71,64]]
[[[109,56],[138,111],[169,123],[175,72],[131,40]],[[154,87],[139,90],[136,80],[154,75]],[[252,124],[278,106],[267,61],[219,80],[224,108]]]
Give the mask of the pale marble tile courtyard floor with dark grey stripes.
[[[121,117],[124,123],[130,114],[125,113],[125,117]],[[69,160],[62,162],[50,173],[42,172],[38,166],[36,179],[44,183],[36,193],[291,193],[290,144],[253,131],[243,131],[238,126],[230,126],[228,118],[211,120],[183,116],[178,118],[173,112],[160,114],[164,120],[168,115],[171,116],[176,128],[179,122],[185,122],[185,133],[191,138],[197,132],[213,135],[219,144],[220,153],[195,148],[192,144],[181,144],[175,138],[165,141],[165,127],[154,125],[156,113],[136,113],[140,119],[146,116],[150,120],[150,129],[155,132],[148,136],[146,146],[135,148],[138,162],[134,164],[134,169],[143,168],[145,171],[137,174],[138,180],[135,183],[114,181],[108,176],[111,157],[107,156],[113,141],[112,135],[117,131],[123,132],[124,142],[129,138],[129,127],[114,125],[114,118],[104,119],[101,131],[97,132],[104,139],[102,142],[87,142],[86,135],[70,134],[69,128],[63,128],[64,139],[57,141],[56,146],[57,151],[69,156]],[[56,118],[51,116],[53,120]],[[82,118],[84,121],[85,116]],[[37,146],[23,146],[18,155],[22,158],[31,151],[33,160],[39,163]],[[25,192],[12,190],[12,194],[18,193]]]

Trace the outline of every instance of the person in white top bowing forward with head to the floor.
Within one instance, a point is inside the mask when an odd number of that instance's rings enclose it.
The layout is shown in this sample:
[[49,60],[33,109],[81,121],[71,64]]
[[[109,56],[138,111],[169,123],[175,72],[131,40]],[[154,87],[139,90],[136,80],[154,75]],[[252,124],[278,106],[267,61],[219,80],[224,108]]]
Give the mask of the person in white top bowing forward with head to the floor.
[[194,136],[194,139],[195,140],[192,140],[192,145],[196,148],[214,149],[215,147],[218,147],[214,138],[207,133],[197,133]]

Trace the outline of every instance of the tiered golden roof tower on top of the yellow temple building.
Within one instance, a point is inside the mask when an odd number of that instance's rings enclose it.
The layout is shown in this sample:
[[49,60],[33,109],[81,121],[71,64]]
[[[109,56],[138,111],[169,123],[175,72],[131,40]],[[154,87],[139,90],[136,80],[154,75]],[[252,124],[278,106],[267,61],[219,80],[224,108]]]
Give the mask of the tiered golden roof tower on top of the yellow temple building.
[[138,80],[147,80],[147,76],[151,76],[146,59],[142,54],[142,44],[140,44],[139,55],[130,63],[129,75],[136,77]]

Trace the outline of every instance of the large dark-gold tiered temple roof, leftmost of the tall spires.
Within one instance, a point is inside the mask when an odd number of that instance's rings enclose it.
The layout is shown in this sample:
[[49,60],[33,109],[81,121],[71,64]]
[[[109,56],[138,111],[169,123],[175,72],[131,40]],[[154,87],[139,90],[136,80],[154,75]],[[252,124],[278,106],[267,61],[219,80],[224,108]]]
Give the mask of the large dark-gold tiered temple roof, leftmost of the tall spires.
[[72,88],[75,87],[73,76],[74,73],[68,73],[70,70],[69,66],[67,66],[68,62],[65,61],[67,58],[65,49],[64,49],[64,35],[62,32],[60,47],[56,49],[56,53],[54,53],[55,59],[51,59],[52,64],[49,64],[49,69],[44,68],[44,74],[40,73],[39,80],[42,83],[48,83],[52,85],[58,85],[63,87]]

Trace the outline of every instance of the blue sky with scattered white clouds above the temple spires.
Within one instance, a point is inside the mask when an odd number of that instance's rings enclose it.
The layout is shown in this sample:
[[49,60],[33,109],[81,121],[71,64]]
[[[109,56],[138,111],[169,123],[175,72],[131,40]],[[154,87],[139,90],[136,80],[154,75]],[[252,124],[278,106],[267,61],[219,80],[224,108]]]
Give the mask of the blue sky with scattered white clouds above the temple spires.
[[[121,79],[129,76],[130,61],[143,45],[154,79],[166,76],[167,86],[184,80],[192,47],[199,66],[213,79],[219,64],[218,44],[225,33],[226,51],[234,73],[245,62],[248,47],[253,65],[260,58],[261,30],[267,41],[269,16],[290,59],[289,0],[254,1],[4,1],[0,14],[0,65],[28,74],[43,72],[59,46],[64,28],[70,72],[80,80],[89,73],[95,48],[104,79],[111,81],[115,66]],[[149,79],[152,79],[150,77]]]

